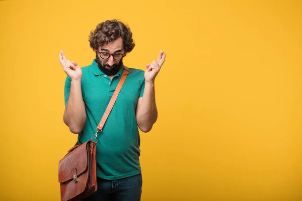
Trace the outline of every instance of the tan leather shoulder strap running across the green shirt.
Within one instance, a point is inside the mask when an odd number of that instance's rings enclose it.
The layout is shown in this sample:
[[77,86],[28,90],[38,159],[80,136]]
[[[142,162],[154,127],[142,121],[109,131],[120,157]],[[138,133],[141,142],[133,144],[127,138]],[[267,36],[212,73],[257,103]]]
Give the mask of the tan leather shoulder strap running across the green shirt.
[[114,93],[113,93],[113,95],[110,99],[110,102],[109,102],[109,104],[106,108],[106,111],[105,111],[99,125],[97,126],[97,133],[102,132],[102,130],[104,128],[104,124],[105,124],[105,122],[106,122],[106,120],[107,120],[107,118],[108,118],[108,116],[109,116],[109,114],[110,114],[110,112],[113,108],[113,105],[115,104],[115,100],[116,100],[116,98],[117,98],[117,96],[118,96],[118,94],[119,94],[126,78],[127,78],[127,75],[129,74],[129,69],[126,66],[124,66],[124,67],[125,67],[125,69],[124,69],[123,75],[121,76],[121,79],[119,80],[119,82],[118,82],[118,84],[117,84],[117,86],[114,90]]

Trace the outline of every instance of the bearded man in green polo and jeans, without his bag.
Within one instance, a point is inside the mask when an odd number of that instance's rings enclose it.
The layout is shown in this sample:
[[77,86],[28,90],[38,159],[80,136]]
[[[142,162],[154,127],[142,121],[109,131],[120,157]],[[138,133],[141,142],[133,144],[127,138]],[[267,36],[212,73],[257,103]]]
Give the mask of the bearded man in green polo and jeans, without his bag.
[[[122,59],[135,46],[130,29],[116,20],[100,23],[91,32],[89,41],[96,52],[89,66],[80,68],[76,62],[67,60],[63,51],[59,54],[67,74],[63,120],[72,133],[79,134],[80,144],[95,135],[124,70]],[[138,128],[149,132],[157,120],[154,81],[165,57],[161,51],[158,60],[147,64],[145,71],[129,68],[129,75],[98,135],[98,191],[84,200],[140,200]]]

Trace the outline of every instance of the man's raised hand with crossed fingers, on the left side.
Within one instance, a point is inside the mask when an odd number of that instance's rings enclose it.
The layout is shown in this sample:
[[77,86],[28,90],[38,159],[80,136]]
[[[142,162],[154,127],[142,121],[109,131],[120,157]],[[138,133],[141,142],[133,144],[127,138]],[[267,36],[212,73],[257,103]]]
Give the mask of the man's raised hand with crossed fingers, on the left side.
[[66,59],[66,56],[63,50],[60,51],[59,60],[63,66],[64,72],[70,77],[70,79],[81,79],[82,78],[82,69],[75,61],[69,61]]

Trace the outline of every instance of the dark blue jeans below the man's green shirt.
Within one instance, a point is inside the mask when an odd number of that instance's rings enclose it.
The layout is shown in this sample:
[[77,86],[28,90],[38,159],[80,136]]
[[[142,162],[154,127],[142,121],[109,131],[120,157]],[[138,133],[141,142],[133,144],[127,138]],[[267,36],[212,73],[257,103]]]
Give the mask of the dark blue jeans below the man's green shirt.
[[98,177],[98,190],[82,201],[139,201],[141,186],[141,173],[116,180]]

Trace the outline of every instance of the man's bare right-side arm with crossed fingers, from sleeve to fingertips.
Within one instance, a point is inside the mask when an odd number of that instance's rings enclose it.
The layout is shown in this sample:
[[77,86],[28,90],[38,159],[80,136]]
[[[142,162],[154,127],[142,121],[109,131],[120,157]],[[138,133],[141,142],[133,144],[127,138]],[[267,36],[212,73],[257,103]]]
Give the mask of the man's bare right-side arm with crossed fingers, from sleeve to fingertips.
[[155,101],[155,77],[159,73],[163,63],[165,62],[166,54],[161,51],[159,58],[153,61],[152,64],[147,64],[147,69],[144,73],[145,86],[142,97],[138,99],[136,107],[137,126],[142,132],[149,132],[158,117],[158,111]]

